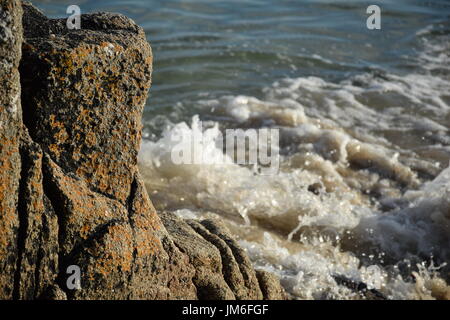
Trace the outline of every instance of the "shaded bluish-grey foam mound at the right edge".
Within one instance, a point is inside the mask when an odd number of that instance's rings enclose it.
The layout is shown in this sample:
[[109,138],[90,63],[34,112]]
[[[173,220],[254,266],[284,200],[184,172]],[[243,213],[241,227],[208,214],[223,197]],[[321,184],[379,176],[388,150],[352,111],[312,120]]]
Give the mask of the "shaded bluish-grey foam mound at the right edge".
[[364,217],[359,231],[382,250],[400,259],[434,256],[450,262],[450,168],[419,190],[407,191],[386,214]]

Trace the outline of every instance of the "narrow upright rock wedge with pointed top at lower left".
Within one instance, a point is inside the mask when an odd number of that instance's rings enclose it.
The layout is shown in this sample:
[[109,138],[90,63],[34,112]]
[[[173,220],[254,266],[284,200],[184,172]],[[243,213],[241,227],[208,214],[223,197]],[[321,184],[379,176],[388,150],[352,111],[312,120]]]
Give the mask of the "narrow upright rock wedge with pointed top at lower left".
[[34,299],[58,273],[58,218],[45,190],[41,148],[24,133],[20,148],[18,269],[15,298]]

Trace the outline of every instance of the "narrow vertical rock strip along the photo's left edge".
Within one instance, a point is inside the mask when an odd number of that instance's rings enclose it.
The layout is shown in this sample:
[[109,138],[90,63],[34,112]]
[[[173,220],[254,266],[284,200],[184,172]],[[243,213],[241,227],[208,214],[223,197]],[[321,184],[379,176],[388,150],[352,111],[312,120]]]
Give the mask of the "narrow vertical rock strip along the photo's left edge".
[[19,228],[22,8],[0,1],[0,299],[13,296]]

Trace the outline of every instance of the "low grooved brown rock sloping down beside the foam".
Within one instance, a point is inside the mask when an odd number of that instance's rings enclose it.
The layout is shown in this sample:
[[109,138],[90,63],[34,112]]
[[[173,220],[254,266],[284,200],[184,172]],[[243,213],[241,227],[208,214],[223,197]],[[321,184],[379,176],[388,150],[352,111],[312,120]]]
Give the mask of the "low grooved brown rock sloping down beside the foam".
[[220,221],[181,220],[159,214],[176,246],[195,267],[199,299],[285,299],[278,279],[255,272],[243,249]]

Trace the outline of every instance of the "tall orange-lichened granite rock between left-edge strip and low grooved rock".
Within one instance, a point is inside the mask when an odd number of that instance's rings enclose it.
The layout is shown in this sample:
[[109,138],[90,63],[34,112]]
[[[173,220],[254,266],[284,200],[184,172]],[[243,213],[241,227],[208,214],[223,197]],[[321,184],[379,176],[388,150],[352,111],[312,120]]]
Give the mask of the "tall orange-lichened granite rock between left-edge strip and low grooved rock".
[[[84,29],[68,30],[65,20],[23,9],[22,154],[25,180],[39,190],[24,199],[17,297],[59,286],[70,299],[195,298],[193,267],[137,170],[152,68],[144,32],[122,15],[85,15]],[[81,290],[66,288],[71,265],[81,269]]]

